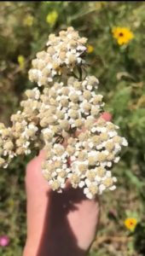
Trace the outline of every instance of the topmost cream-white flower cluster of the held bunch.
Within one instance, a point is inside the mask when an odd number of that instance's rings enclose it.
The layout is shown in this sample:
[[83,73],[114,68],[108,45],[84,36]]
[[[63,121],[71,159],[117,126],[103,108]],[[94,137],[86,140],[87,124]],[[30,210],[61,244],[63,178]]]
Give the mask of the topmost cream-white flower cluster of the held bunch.
[[48,85],[56,75],[72,72],[74,67],[85,63],[86,41],[87,38],[80,38],[73,27],[61,31],[58,37],[50,34],[46,44],[48,48],[38,52],[37,58],[32,61],[29,79],[37,82],[38,86]]

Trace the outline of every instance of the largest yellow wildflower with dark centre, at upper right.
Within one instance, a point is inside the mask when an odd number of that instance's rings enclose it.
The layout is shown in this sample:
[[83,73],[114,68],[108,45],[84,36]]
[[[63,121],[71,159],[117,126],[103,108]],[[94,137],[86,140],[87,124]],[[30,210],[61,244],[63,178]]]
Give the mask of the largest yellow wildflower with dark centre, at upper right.
[[129,44],[132,38],[134,38],[133,32],[127,27],[113,27],[113,38],[115,38],[119,45]]

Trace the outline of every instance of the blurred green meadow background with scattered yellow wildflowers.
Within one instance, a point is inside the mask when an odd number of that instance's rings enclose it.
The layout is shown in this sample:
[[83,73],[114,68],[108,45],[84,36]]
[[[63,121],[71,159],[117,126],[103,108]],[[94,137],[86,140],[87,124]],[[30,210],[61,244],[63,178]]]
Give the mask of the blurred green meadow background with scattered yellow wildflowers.
[[[0,121],[9,125],[27,72],[49,33],[74,26],[87,44],[88,73],[100,80],[105,110],[129,147],[113,168],[118,188],[102,195],[102,218],[90,256],[145,255],[145,3],[0,3]],[[0,256],[20,256],[26,241],[25,166],[0,171]]]

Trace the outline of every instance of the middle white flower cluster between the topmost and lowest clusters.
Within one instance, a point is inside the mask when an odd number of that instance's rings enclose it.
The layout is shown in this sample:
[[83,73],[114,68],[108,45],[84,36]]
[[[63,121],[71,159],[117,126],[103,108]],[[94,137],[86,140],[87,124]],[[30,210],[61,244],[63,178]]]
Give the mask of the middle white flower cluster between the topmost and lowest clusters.
[[51,130],[54,136],[63,131],[61,135],[64,137],[65,132],[81,128],[95,119],[104,105],[102,96],[93,91],[97,84],[98,80],[93,76],[83,81],[71,77],[67,84],[55,83],[53,87],[45,88],[38,109],[40,125],[46,128],[43,133],[46,135]]

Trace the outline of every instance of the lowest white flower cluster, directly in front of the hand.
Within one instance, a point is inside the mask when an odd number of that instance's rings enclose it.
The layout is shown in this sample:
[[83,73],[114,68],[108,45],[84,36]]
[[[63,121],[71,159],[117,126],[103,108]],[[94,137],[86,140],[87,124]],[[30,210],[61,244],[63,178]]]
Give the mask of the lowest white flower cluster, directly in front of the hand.
[[121,146],[127,146],[125,138],[118,136],[118,128],[100,118],[77,138],[69,137],[66,147],[49,143],[42,167],[51,188],[61,191],[69,179],[73,188],[84,189],[89,199],[105,189],[115,189],[117,179],[110,169],[119,161]]

